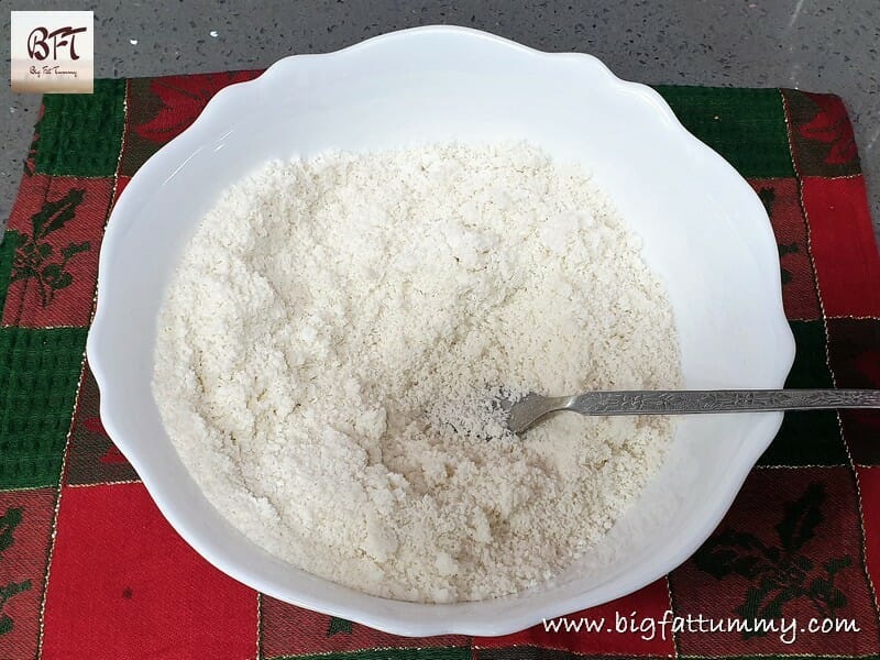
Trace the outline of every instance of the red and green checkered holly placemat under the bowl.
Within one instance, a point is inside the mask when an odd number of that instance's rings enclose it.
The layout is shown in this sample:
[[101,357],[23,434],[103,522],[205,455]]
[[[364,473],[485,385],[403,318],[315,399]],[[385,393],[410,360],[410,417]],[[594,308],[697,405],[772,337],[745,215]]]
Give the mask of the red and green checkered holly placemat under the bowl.
[[[44,99],[0,245],[0,659],[880,654],[878,411],[788,415],[691,560],[568,619],[605,617],[598,630],[395,637],[262,596],[184,543],[101,426],[84,359],[98,253],[138,167],[217,90],[257,74],[98,80],[94,95]],[[844,105],[659,91],[767,207],[798,342],[788,385],[880,387],[880,257]],[[712,631],[755,619],[788,627]],[[809,630],[825,622],[849,629]]]

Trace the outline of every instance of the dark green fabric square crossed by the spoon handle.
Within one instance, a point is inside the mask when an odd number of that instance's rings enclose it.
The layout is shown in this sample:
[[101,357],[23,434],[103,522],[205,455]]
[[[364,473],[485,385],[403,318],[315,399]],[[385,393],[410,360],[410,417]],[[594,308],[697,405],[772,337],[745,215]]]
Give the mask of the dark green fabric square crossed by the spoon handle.
[[[796,353],[785,387],[833,387],[823,321],[789,321]],[[759,465],[840,465],[847,462],[834,410],[787,413]]]

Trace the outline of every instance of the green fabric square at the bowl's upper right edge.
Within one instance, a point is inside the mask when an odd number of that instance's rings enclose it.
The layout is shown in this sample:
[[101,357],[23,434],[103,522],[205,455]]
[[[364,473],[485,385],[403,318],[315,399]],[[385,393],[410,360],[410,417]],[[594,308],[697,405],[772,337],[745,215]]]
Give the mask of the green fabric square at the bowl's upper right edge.
[[785,109],[778,89],[658,85],[684,127],[744,177],[794,176]]

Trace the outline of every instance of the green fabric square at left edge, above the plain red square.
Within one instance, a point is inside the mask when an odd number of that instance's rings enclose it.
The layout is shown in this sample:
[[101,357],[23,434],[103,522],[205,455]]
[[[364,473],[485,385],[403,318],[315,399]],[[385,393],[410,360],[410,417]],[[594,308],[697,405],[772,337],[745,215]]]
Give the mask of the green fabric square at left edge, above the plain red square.
[[0,328],[0,488],[58,483],[86,328]]

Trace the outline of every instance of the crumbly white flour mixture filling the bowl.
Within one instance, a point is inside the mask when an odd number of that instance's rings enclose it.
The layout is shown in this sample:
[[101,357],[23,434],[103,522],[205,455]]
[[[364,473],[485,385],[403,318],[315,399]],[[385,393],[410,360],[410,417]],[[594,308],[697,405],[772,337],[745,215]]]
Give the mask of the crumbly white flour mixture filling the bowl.
[[680,384],[666,294],[580,168],[527,145],[273,163],[206,216],[160,317],[154,392],[232,525],[311,573],[424,602],[564,570],[658,469],[666,418],[487,393]]

